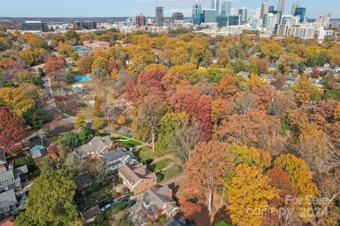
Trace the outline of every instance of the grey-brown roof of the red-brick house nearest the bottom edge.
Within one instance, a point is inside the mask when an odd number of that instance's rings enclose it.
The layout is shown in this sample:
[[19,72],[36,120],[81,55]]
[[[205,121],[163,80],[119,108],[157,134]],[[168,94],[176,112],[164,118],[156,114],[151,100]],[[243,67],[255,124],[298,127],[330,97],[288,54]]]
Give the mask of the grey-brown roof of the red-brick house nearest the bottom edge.
[[163,208],[164,204],[167,203],[166,212],[172,213],[176,206],[176,201],[171,198],[172,191],[169,186],[155,187],[147,189],[145,194],[142,196],[142,205],[147,210],[149,216],[156,215],[160,209]]

